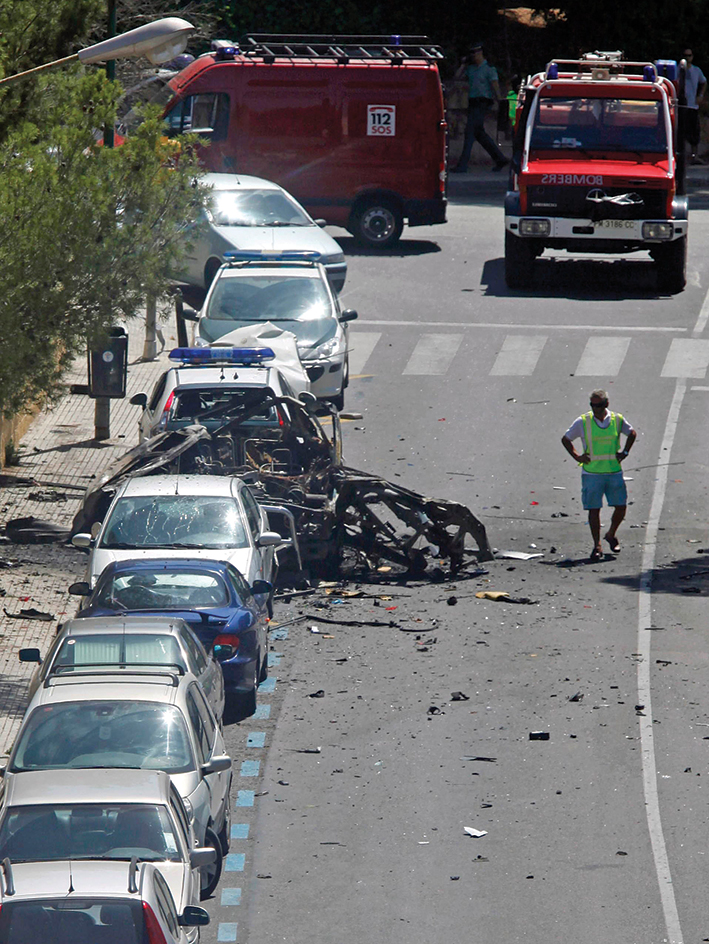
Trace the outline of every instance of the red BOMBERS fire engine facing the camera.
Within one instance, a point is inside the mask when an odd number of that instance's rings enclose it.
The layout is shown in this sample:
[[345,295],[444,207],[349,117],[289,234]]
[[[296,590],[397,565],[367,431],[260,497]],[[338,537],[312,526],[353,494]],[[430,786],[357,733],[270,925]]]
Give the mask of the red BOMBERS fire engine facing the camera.
[[505,277],[528,286],[545,249],[649,251],[662,292],[686,281],[680,69],[620,52],[554,59],[520,93]]

